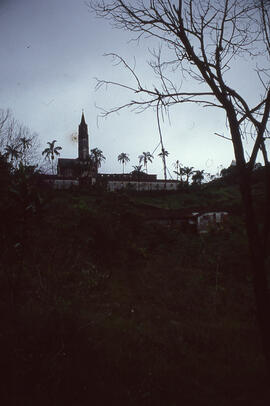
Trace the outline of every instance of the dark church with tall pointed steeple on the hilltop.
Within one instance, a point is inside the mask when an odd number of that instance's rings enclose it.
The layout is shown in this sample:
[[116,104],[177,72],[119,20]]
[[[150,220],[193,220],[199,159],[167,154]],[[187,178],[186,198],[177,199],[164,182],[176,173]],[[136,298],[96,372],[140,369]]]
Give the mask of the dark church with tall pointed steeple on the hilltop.
[[78,158],[59,158],[57,175],[62,179],[87,178],[92,184],[95,183],[97,164],[89,156],[88,127],[83,112],[78,130]]

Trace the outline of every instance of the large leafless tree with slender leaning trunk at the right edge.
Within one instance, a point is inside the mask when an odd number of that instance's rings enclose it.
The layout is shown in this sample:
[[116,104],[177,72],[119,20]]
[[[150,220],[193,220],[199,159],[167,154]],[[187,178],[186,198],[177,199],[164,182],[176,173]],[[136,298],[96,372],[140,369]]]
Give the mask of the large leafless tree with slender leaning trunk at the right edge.
[[[270,228],[270,165],[266,139],[270,110],[270,11],[263,0],[92,0],[89,7],[115,27],[131,31],[139,41],[150,37],[165,47],[153,51],[152,67],[158,81],[143,85],[135,70],[120,56],[113,58],[131,74],[134,84],[98,80],[97,86],[117,85],[133,92],[134,98],[110,112],[125,107],[168,111],[177,103],[196,103],[222,109],[234,149],[239,174],[245,224],[249,241],[257,315],[265,356],[270,370],[270,299],[266,258]],[[258,94],[249,99],[233,86],[236,63],[253,62]],[[188,79],[188,81],[187,81]],[[197,87],[190,91],[190,81]],[[256,97],[255,97],[256,96]],[[245,154],[245,138],[252,144]],[[251,173],[259,152],[267,173],[267,201],[260,230],[251,193]]]

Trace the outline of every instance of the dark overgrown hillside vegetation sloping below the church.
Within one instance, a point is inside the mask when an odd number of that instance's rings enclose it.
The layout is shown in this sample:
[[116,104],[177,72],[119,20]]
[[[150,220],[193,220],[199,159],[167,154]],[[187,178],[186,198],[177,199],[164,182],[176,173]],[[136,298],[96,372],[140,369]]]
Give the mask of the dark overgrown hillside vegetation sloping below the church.
[[[268,405],[237,187],[53,191],[1,160],[4,405]],[[257,210],[262,186],[254,179]],[[133,202],[229,208],[204,235]]]

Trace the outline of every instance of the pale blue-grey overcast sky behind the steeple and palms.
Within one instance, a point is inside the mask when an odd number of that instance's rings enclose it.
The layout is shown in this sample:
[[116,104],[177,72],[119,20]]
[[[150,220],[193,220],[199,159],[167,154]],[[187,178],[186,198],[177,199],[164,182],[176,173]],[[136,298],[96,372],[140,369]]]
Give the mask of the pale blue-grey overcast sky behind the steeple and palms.
[[[37,132],[42,149],[56,139],[63,148],[62,158],[77,157],[72,135],[78,131],[83,109],[90,148],[101,149],[106,157],[101,172],[121,173],[117,157],[122,152],[129,154],[126,171],[131,171],[143,151],[152,153],[159,144],[156,115],[123,110],[98,118],[100,108],[124,104],[133,95],[116,87],[95,90],[97,77],[129,83],[127,72],[104,56],[108,53],[120,54],[130,63],[136,58],[145,82],[154,83],[146,65],[148,45],[130,38],[97,19],[81,0],[0,0],[0,108],[10,108],[16,119]],[[240,67],[234,80],[247,83]],[[185,86],[193,88],[189,82]],[[249,81],[245,87],[252,92],[252,86]],[[234,159],[230,141],[215,135],[228,136],[219,109],[177,105],[161,127],[172,176],[176,160],[216,174]],[[162,178],[159,152],[160,147],[148,170]]]

